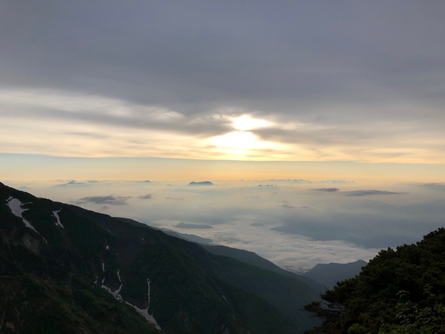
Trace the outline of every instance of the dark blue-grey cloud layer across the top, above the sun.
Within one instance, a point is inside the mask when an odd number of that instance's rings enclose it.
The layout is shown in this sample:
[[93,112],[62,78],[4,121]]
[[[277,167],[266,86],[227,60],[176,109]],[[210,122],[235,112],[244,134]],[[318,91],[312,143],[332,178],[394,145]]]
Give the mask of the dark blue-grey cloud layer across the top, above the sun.
[[423,84],[439,80],[441,2],[13,1],[0,13],[3,63],[26,65],[27,80],[45,86],[90,78],[88,89],[156,104],[377,101],[388,88],[440,98]]

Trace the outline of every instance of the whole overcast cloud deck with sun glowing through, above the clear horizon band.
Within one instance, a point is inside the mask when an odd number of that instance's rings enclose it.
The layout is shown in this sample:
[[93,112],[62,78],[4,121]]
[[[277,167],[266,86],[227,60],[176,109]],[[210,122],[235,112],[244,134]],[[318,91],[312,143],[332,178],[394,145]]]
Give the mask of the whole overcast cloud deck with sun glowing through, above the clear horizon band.
[[444,16],[443,1],[1,1],[2,151],[444,162]]

